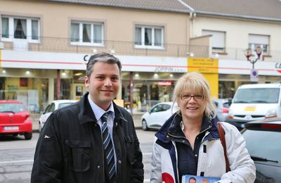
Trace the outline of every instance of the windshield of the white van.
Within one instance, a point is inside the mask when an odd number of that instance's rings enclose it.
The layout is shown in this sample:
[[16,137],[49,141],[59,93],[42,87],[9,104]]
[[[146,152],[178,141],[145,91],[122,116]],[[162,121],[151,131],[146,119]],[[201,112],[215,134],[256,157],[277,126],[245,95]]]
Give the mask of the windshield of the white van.
[[233,103],[277,103],[279,93],[277,88],[238,89]]

